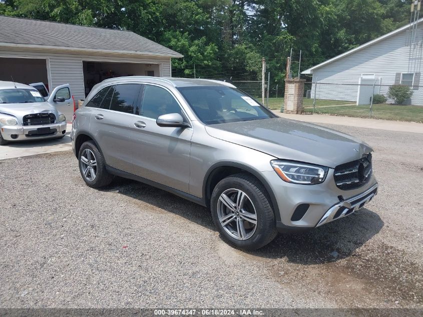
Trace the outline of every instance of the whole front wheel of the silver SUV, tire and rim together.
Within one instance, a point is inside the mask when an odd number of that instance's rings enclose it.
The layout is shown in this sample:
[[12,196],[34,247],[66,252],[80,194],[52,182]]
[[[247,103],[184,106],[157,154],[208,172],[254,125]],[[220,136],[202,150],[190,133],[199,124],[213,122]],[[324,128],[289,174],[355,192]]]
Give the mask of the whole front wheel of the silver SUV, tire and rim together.
[[269,195],[251,175],[242,173],[221,180],[213,190],[210,205],[213,221],[229,244],[255,250],[276,236]]

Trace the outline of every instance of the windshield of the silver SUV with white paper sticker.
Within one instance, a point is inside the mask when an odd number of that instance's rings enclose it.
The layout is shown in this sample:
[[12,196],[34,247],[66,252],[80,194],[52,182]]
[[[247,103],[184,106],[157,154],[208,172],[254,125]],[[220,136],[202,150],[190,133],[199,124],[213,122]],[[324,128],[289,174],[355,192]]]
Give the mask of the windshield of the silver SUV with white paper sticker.
[[198,118],[205,124],[276,118],[239,89],[222,86],[179,87]]

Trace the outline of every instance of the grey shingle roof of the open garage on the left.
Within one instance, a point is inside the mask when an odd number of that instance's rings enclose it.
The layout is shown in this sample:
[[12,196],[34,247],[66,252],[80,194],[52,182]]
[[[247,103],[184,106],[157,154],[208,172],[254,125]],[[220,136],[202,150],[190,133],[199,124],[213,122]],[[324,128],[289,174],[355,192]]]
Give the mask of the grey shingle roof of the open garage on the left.
[[68,51],[182,57],[130,31],[0,16],[0,44]]

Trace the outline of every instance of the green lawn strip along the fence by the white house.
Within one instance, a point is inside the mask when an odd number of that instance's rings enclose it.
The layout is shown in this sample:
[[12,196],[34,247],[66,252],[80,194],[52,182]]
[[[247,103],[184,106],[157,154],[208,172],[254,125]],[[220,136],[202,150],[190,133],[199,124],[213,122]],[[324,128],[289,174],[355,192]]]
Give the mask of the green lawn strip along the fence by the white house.
[[[338,115],[355,118],[369,118],[369,105],[350,105],[351,101],[316,100],[316,113]],[[349,104],[349,105],[346,105]],[[269,98],[269,108],[280,110],[283,98]],[[330,107],[334,106],[334,107]],[[313,99],[304,98],[304,110],[312,112]],[[390,104],[373,105],[373,117],[383,120],[397,120],[410,122],[423,122],[423,106],[397,106]]]

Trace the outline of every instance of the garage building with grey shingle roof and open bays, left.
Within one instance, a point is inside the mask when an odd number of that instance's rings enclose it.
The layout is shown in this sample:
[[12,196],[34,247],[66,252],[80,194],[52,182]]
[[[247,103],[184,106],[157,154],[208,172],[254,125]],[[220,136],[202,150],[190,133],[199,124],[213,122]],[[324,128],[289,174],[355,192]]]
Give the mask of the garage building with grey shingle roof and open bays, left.
[[75,99],[111,77],[171,77],[183,57],[133,32],[0,16],[0,81],[70,84]]

